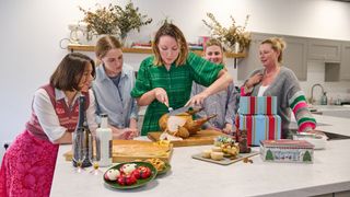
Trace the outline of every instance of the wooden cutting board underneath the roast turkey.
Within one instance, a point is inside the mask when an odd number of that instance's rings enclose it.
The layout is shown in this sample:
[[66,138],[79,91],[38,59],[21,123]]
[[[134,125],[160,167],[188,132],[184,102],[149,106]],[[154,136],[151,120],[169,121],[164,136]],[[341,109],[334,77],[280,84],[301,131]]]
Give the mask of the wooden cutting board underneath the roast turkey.
[[[160,141],[162,132],[149,132],[148,138],[152,141]],[[171,141],[174,147],[206,146],[213,144],[214,138],[218,136],[228,136],[218,130],[200,130],[195,136],[190,136],[184,140]]]

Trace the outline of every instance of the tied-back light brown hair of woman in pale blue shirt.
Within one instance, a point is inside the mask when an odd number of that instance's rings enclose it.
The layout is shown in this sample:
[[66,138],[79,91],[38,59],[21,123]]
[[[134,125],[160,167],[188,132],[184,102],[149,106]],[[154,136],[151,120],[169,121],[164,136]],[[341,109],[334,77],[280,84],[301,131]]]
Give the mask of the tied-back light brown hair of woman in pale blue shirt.
[[[120,42],[115,36],[103,36],[101,37],[95,46],[95,55],[97,58],[103,58],[106,56],[106,54],[114,48],[121,48]],[[101,62],[96,62],[96,65],[100,65]]]

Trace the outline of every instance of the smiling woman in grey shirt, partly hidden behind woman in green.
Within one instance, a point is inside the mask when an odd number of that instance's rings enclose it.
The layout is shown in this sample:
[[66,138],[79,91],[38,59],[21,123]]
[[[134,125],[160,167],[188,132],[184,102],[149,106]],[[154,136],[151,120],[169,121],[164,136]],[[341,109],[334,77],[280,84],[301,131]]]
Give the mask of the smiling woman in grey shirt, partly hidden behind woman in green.
[[[223,48],[218,39],[209,39],[206,43],[205,58],[214,63],[223,63]],[[206,86],[192,83],[191,95],[202,92]],[[236,99],[240,94],[235,91],[233,82],[230,83],[225,91],[221,91],[206,99],[203,111],[198,113],[199,116],[210,116],[217,114],[215,118],[210,119],[205,129],[222,130],[225,134],[233,132],[233,119],[236,112]]]

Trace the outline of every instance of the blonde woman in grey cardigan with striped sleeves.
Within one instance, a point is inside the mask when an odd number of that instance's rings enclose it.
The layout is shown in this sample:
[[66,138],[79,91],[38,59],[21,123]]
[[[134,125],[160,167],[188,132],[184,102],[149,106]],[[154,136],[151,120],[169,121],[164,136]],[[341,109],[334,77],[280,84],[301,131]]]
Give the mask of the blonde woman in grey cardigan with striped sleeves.
[[264,68],[255,70],[241,88],[241,95],[277,96],[278,115],[282,119],[282,138],[291,138],[289,125],[291,111],[299,131],[313,131],[316,120],[308,111],[304,92],[294,72],[282,67],[285,43],[282,38],[268,38],[260,44],[259,57]]

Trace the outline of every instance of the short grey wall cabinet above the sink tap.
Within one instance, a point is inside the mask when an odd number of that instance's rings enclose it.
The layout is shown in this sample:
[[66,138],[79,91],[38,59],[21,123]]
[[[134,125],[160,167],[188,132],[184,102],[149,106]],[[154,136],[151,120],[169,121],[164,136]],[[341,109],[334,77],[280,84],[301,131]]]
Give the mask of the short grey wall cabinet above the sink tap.
[[308,38],[307,60],[322,62],[339,62],[341,42]]

